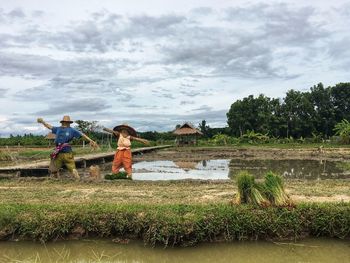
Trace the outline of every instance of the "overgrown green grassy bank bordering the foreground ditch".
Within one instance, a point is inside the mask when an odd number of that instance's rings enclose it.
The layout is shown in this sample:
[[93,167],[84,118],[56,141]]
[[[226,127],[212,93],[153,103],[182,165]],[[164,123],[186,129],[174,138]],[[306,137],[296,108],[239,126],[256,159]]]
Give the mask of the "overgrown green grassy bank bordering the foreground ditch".
[[221,205],[0,205],[0,238],[42,242],[81,237],[142,239],[146,244],[350,237],[350,204],[296,208]]

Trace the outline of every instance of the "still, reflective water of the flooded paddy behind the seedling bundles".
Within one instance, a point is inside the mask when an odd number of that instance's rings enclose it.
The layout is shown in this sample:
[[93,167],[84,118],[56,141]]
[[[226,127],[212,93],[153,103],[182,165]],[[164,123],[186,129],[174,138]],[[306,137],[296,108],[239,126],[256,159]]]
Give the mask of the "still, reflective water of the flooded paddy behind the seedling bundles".
[[[111,165],[103,167],[109,172]],[[133,165],[134,180],[222,180],[248,170],[256,178],[273,171],[289,179],[350,179],[350,162],[317,160],[217,159],[203,161],[142,161]]]

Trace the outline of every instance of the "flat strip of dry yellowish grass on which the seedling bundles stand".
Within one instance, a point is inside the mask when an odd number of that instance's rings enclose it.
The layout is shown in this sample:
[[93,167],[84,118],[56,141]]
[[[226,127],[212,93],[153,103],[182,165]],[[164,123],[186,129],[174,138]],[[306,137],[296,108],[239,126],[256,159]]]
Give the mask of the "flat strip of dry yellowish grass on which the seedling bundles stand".
[[[286,180],[285,184],[296,203],[350,201],[350,180]],[[232,181],[0,180],[0,204],[225,204],[236,194]]]

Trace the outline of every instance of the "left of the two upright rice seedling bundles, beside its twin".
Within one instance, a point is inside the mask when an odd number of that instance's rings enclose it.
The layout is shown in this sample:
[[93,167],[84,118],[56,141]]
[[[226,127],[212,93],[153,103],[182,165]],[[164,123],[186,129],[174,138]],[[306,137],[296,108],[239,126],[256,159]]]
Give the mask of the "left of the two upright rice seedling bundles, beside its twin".
[[259,185],[255,183],[254,176],[247,171],[241,171],[237,175],[237,187],[238,194],[236,197],[236,204],[254,204],[254,205],[267,205],[268,201],[261,194]]

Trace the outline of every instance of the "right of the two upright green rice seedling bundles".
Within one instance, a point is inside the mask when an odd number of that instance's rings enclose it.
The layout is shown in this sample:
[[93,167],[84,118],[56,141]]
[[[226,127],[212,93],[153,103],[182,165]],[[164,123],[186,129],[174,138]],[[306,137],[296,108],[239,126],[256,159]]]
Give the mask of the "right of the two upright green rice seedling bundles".
[[276,206],[286,206],[290,200],[283,187],[281,176],[268,172],[265,175],[264,194],[267,199]]

